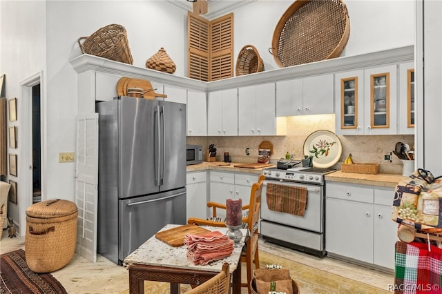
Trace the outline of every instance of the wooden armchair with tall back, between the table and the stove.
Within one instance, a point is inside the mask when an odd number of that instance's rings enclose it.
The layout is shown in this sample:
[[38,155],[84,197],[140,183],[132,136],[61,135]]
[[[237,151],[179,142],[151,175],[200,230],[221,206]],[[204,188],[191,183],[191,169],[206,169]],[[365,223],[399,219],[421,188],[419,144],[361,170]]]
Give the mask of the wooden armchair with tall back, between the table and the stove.
[[[241,262],[246,263],[247,268],[247,284],[241,283],[242,287],[247,287],[249,289],[249,294],[251,294],[251,289],[249,287],[250,282],[253,278],[253,264],[255,268],[260,267],[259,251],[258,251],[258,220],[260,218],[260,207],[261,207],[261,193],[262,184],[264,182],[265,176],[260,175],[258,182],[251,186],[250,200],[248,205],[242,206],[242,210],[248,210],[247,217],[242,218],[242,222],[247,224],[249,230],[249,239],[245,244],[246,251],[242,252]],[[223,219],[216,219],[216,209],[226,209],[225,204],[220,204],[216,202],[209,202],[207,206],[213,208],[213,217],[211,219],[198,219],[190,217],[187,220],[188,224],[196,224],[198,226],[220,226],[225,227],[226,224]]]

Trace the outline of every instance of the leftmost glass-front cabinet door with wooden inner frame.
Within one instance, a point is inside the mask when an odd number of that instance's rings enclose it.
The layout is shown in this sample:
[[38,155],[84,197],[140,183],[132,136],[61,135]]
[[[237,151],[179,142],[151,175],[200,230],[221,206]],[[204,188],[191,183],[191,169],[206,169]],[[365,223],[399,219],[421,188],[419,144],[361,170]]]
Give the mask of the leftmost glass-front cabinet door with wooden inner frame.
[[[336,134],[363,134],[363,70],[335,75]],[[362,102],[361,102],[362,101]]]

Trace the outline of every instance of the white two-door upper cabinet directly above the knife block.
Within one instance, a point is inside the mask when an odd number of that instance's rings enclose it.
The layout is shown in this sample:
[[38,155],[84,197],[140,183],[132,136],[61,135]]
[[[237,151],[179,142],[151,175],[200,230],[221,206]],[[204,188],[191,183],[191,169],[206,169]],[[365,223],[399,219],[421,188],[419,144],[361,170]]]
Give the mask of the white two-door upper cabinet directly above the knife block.
[[238,89],[209,92],[207,135],[238,136]]

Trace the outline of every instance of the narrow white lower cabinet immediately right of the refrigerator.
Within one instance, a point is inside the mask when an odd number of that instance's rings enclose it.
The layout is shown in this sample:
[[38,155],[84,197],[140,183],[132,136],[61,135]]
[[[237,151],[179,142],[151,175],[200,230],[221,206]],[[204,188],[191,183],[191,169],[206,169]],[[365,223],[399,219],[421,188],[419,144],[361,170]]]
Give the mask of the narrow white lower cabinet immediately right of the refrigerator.
[[207,217],[207,172],[189,172],[186,179],[186,217]]

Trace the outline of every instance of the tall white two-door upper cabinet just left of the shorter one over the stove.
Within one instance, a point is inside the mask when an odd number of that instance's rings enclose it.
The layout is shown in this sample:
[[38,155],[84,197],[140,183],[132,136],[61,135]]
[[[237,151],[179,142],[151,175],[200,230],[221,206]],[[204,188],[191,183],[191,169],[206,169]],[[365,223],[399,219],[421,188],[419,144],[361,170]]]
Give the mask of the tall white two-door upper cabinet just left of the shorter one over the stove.
[[274,83],[238,89],[238,135],[276,135]]

